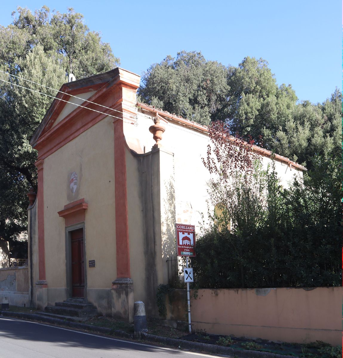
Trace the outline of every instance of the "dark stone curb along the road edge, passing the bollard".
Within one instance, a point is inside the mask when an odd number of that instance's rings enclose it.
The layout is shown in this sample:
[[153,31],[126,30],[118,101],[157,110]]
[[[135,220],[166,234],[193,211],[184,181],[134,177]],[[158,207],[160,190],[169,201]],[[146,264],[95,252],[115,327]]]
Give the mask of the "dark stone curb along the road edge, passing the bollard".
[[[0,311],[0,314],[4,317],[29,319],[29,320],[35,320],[45,323],[54,323],[71,328],[86,329],[92,332],[113,334],[116,337],[120,337],[120,338],[134,339],[134,336],[132,334],[126,333],[119,329],[98,327],[90,324],[65,321],[62,319],[52,318],[52,317],[43,317],[41,315],[31,314],[31,313]],[[197,350],[200,352],[206,352],[212,354],[230,355],[232,357],[235,356],[237,358],[296,358],[294,355],[282,355],[282,354],[275,354],[270,352],[259,352],[257,350],[230,348],[230,347],[224,347],[222,345],[216,345],[216,344],[207,344],[207,343],[191,342],[183,339],[160,337],[148,333],[141,333],[140,339],[150,343],[160,343],[173,348]]]

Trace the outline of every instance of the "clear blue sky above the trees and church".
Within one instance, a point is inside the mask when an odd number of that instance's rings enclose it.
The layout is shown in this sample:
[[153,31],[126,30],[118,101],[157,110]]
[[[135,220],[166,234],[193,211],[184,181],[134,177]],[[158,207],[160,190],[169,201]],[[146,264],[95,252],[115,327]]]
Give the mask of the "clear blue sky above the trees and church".
[[3,2],[0,24],[17,6],[73,7],[101,33],[121,67],[142,74],[180,50],[238,66],[264,58],[278,84],[291,84],[299,100],[323,102],[342,78],[342,4],[339,0],[245,1],[24,1]]

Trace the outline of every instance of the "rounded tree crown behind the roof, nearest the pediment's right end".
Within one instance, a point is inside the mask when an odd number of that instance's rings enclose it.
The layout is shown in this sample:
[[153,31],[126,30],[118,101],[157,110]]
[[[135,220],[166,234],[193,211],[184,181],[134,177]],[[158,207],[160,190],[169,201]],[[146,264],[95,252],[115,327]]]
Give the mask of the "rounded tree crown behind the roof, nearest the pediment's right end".
[[139,100],[203,125],[227,115],[228,69],[200,52],[179,52],[152,65],[142,77]]

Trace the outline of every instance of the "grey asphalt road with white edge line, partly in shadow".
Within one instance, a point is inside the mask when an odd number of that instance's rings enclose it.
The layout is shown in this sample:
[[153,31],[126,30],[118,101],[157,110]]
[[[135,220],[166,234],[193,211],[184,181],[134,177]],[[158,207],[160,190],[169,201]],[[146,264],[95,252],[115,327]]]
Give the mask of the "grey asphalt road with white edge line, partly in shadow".
[[197,358],[183,352],[0,317],[0,358]]

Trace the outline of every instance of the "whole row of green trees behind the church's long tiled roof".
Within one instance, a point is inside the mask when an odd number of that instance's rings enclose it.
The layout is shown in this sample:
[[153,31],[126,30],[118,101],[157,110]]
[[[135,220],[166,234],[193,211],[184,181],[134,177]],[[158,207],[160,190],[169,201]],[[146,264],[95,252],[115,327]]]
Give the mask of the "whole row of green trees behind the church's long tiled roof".
[[200,52],[182,51],[153,64],[139,94],[141,101],[200,124],[225,121],[231,134],[251,136],[255,144],[308,168],[314,155],[340,153],[340,91],[322,104],[298,103],[291,85],[276,84],[264,59],[246,57],[226,67]]

